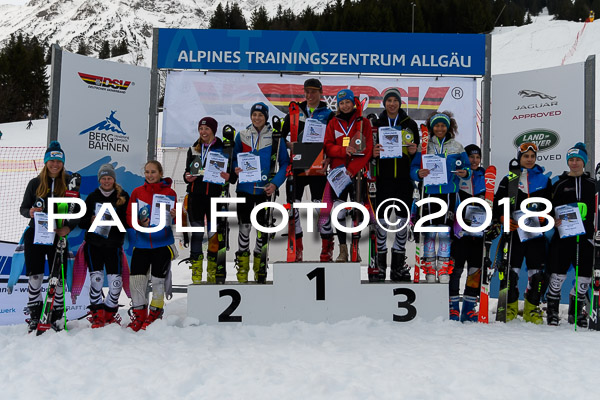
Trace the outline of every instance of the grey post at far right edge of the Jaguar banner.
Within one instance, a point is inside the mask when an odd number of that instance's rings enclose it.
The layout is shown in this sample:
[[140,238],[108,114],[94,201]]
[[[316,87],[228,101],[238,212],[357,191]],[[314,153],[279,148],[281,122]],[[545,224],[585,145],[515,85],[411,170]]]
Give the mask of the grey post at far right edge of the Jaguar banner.
[[584,138],[587,146],[589,161],[586,170],[594,176],[596,168],[596,55],[592,54],[585,60],[584,66]]

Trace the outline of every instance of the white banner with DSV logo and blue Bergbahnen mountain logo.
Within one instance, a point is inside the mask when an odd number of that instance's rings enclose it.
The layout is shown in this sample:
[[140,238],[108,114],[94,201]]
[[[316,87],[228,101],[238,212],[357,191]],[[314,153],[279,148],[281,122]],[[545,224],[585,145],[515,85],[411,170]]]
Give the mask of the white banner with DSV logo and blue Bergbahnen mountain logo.
[[58,140],[66,168],[82,175],[84,198],[104,163],[127,192],[143,183],[149,93],[149,68],[62,52]]

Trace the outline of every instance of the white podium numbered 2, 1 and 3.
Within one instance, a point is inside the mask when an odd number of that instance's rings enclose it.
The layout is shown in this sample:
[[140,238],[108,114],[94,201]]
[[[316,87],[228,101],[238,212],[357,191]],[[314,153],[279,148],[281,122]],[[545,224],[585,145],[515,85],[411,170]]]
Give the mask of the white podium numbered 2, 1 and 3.
[[[267,284],[188,287],[188,316],[203,324],[337,322],[356,317],[409,322],[448,318],[448,285],[361,281],[358,263],[274,263]],[[252,272],[250,272],[252,276]]]

